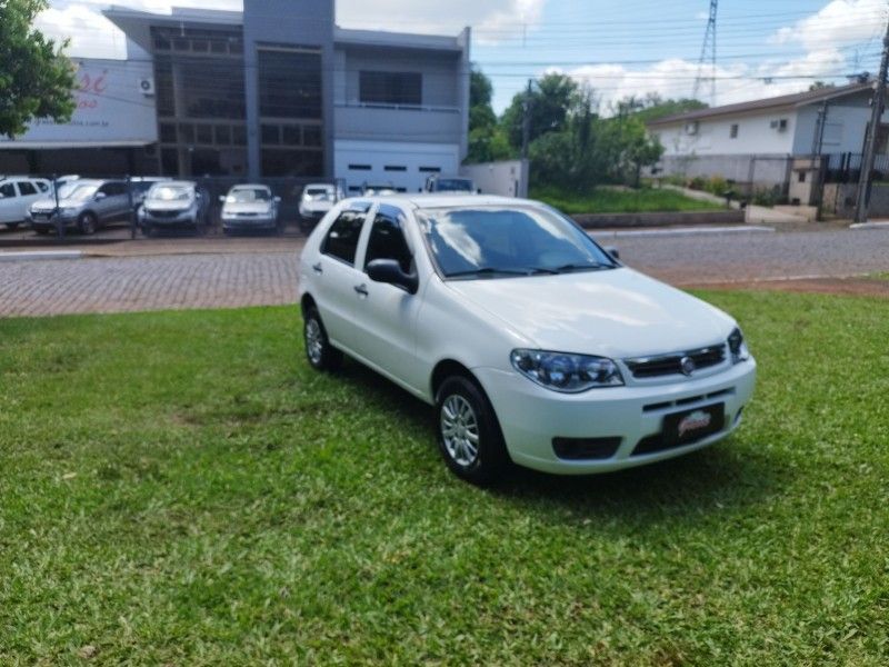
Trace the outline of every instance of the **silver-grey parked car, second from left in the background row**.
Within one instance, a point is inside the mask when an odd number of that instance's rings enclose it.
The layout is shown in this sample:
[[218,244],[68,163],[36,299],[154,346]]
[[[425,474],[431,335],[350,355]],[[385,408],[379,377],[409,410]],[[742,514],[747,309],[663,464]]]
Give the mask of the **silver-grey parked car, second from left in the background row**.
[[59,189],[58,206],[52,196],[32,203],[30,223],[37,233],[63,225],[89,235],[111,222],[128,220],[131,211],[126,181],[78,179]]

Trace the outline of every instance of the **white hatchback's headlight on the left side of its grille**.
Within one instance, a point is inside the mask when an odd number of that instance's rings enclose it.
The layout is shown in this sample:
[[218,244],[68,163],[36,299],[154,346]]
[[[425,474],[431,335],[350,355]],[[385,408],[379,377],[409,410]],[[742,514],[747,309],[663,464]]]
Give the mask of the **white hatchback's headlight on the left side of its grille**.
[[620,387],[623,377],[611,359],[546,350],[512,350],[516,370],[541,387],[579,394],[596,387]]

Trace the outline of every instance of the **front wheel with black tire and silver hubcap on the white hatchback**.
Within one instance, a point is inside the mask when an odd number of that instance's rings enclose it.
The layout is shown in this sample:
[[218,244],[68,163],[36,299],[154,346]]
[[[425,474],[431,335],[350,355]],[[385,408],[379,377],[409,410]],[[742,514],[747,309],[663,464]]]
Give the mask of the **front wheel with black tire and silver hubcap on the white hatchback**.
[[490,486],[509,471],[511,460],[497,415],[485,391],[470,378],[451,376],[439,387],[436,434],[444,462],[461,479]]

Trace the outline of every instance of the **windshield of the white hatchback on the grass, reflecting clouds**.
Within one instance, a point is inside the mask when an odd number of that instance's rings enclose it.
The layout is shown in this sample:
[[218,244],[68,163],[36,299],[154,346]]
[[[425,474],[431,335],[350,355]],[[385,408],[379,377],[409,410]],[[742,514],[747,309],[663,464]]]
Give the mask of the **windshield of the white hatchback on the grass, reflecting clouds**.
[[418,211],[447,278],[500,278],[612,269],[619,265],[555,210],[536,206]]

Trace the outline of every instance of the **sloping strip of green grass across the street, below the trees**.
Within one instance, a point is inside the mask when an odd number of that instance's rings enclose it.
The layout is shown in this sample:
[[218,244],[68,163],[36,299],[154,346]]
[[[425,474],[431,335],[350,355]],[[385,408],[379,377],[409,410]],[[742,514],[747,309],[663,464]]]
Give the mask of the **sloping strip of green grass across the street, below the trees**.
[[618,190],[597,188],[586,195],[567,192],[558,188],[531,188],[531,199],[546,201],[569,213],[643,213],[677,211],[713,211],[718,205],[686,197],[676,190],[641,188]]

